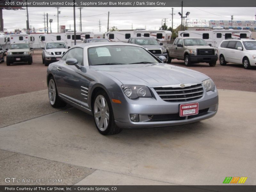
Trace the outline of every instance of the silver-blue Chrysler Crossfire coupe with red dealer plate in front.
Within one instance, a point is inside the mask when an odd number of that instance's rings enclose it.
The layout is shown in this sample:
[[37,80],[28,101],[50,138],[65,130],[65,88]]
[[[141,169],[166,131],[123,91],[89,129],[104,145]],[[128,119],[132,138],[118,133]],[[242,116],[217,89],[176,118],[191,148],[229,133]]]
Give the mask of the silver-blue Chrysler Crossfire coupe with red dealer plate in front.
[[47,69],[50,103],[91,114],[104,135],[214,116],[218,92],[212,79],[163,61],[136,44],[75,45]]

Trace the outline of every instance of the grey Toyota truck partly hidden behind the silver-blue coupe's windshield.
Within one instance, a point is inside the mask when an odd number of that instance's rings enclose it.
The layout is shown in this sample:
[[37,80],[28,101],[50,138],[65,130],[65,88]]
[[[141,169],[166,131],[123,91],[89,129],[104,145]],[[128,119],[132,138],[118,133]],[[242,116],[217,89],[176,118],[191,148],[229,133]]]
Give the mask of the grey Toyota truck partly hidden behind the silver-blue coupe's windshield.
[[156,41],[156,39],[154,39],[154,38],[151,38],[151,37],[132,37],[128,40],[127,43],[141,45],[142,47],[147,49],[149,52],[154,54],[156,57],[159,57],[161,55],[166,57],[166,58],[168,57],[168,55],[166,53],[166,49],[162,46],[163,43],[162,42],[158,43]]

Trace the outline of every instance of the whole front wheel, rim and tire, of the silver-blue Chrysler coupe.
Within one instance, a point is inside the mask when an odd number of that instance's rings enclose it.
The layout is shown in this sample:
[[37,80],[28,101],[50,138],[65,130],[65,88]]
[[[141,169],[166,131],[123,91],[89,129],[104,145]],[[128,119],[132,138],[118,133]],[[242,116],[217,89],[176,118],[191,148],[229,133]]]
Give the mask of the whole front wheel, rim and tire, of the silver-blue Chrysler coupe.
[[113,135],[122,131],[116,126],[113,109],[108,95],[99,91],[93,101],[94,122],[102,135]]

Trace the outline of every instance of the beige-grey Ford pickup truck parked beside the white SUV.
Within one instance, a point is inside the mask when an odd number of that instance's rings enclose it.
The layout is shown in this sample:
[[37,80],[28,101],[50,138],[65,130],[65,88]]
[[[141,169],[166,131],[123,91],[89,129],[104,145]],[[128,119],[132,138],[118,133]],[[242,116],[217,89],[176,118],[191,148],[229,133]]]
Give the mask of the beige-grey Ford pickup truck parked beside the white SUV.
[[187,67],[192,63],[209,63],[214,67],[218,60],[217,49],[209,46],[202,38],[178,37],[173,44],[164,47],[168,54],[167,63],[178,59],[184,60]]

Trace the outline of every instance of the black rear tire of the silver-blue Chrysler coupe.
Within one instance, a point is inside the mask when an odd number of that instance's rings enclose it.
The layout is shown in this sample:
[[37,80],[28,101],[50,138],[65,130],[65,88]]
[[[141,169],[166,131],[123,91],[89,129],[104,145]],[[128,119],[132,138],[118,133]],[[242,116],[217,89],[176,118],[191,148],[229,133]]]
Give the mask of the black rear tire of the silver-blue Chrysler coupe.
[[[52,100],[52,102],[51,102],[51,98],[50,98],[51,95],[50,95],[50,91],[49,91],[51,88],[54,88],[52,94],[55,96],[55,100]],[[49,83],[48,83],[48,97],[49,97],[50,104],[53,108],[65,107],[67,105],[67,103],[62,101],[60,99],[60,97],[58,96],[56,83],[55,83],[53,77],[50,78]]]

